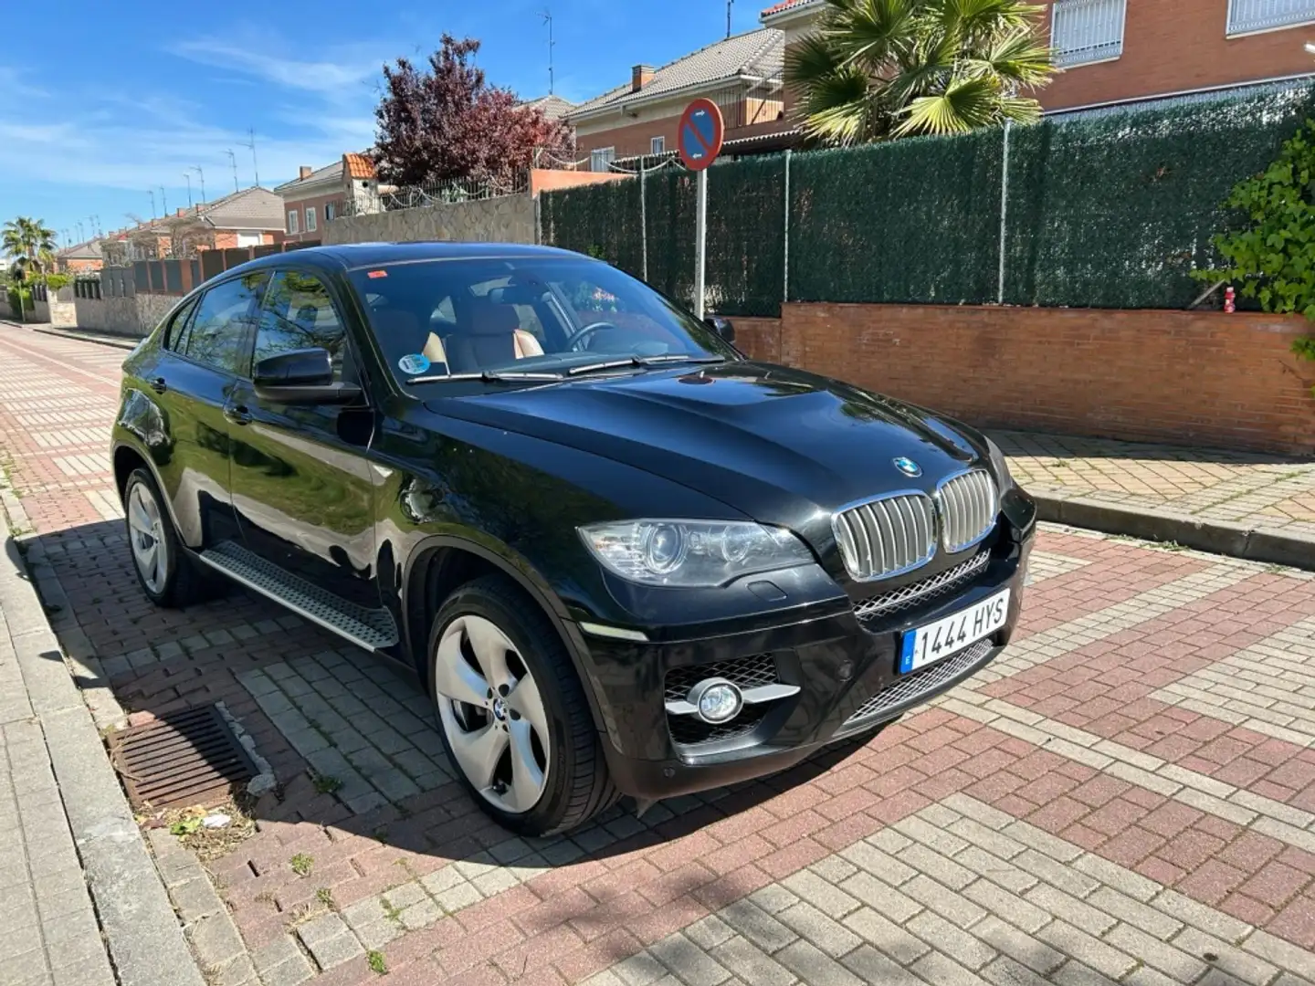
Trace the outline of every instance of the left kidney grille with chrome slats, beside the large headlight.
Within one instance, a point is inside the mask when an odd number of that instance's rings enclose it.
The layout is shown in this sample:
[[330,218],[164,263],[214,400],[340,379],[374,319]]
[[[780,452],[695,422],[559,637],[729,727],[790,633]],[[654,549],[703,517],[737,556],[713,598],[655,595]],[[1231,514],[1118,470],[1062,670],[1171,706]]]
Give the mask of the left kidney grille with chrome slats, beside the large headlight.
[[844,567],[864,582],[909,572],[936,552],[936,511],[922,493],[859,504],[838,513],[831,527]]

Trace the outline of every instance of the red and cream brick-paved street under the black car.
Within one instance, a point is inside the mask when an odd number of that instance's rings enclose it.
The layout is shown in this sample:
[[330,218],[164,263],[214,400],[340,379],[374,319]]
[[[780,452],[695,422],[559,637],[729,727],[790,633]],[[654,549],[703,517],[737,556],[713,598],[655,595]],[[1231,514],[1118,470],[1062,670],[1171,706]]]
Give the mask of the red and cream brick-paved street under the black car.
[[281,782],[209,881],[153,833],[226,981],[1315,982],[1310,576],[1047,528],[1019,639],[932,707],[642,822],[512,839],[404,676],[241,592],[142,599],[108,476],[55,463],[103,452],[51,438],[93,422],[20,421],[112,406],[121,354],[17,331],[0,446],[57,631],[135,716],[222,699]]

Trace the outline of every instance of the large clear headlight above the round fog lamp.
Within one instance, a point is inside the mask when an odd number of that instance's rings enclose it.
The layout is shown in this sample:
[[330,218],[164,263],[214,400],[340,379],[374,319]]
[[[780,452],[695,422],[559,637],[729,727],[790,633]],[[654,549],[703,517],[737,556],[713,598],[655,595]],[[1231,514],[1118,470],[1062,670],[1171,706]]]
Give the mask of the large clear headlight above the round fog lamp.
[[604,568],[631,582],[692,589],[813,561],[789,531],[726,521],[618,521],[580,528]]

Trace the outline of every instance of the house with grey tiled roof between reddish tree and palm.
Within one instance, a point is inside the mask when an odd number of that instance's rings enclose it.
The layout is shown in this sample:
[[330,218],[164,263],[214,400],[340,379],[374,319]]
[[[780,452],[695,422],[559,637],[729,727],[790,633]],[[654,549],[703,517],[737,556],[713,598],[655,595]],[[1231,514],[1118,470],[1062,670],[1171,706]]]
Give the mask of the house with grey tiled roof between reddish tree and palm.
[[764,28],[700,49],[660,68],[636,64],[630,82],[565,114],[576,153],[592,171],[611,162],[676,150],[680,114],[697,96],[713,100],[726,122],[726,149],[771,150],[789,131],[781,84],[785,35]]

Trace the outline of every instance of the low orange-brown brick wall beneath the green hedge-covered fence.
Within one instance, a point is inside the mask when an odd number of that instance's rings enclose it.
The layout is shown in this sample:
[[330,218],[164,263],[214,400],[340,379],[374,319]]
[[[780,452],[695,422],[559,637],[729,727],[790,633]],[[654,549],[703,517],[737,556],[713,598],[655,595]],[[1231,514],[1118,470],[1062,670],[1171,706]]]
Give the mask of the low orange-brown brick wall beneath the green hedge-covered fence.
[[980,426],[1315,454],[1304,319],[1218,312],[785,305],[736,318],[755,358]]

